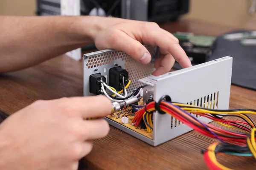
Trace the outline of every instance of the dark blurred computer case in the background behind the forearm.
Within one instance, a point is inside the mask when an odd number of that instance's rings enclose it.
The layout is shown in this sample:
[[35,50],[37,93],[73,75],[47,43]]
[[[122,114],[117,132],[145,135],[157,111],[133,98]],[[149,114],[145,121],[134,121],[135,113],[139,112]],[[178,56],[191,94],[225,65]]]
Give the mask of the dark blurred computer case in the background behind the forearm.
[[[81,0],[81,15],[166,22],[188,13],[189,0]],[[37,0],[38,15],[60,15],[61,0]]]

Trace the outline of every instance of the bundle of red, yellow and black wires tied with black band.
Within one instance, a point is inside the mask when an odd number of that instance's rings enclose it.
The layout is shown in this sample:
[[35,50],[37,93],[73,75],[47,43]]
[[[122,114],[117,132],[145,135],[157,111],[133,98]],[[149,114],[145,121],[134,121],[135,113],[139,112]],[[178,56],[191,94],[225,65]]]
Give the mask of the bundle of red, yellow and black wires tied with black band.
[[[166,98],[166,101],[163,101],[164,98]],[[207,151],[204,152],[204,159],[210,170],[230,170],[218,163],[215,156],[218,153],[247,157],[253,156],[256,159],[256,126],[250,117],[246,115],[256,114],[256,110],[214,110],[172,102],[169,96],[163,96],[159,102],[150,102],[144,108],[137,111],[132,123],[138,127],[143,119],[147,132],[152,132],[153,122],[151,116],[155,111],[158,111],[160,114],[168,113],[199,133],[218,139],[221,142],[211,144]],[[225,129],[201,122],[196,115],[212,119],[225,127]],[[236,117],[241,120],[229,120],[220,116]],[[236,131],[232,129],[236,129]]]

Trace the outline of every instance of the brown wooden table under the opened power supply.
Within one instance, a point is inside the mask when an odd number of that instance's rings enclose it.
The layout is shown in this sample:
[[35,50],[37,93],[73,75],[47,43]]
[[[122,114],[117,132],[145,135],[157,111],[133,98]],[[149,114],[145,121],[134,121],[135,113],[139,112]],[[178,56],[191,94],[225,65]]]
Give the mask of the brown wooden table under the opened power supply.
[[[206,35],[219,35],[235,29],[197,20],[181,20],[161,27],[171,32],[187,31]],[[56,57],[22,71],[0,75],[0,111],[8,114],[15,113],[38,99],[82,95],[82,62],[66,56]],[[255,103],[256,91],[232,85],[230,108],[256,109]],[[256,117],[253,119],[256,120]],[[206,149],[214,141],[192,131],[158,147],[152,147],[111,127],[110,134],[105,139],[95,141],[92,152],[84,161],[90,170],[206,169],[201,149]],[[221,156],[219,160],[231,168],[244,166],[244,169],[254,169],[255,166],[253,158]]]

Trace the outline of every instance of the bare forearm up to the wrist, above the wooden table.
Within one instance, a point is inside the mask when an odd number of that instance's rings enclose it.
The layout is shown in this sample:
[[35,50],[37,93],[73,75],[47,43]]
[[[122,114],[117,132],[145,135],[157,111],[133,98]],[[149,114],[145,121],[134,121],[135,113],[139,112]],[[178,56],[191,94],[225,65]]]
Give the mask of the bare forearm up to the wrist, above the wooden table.
[[0,72],[27,68],[93,43],[99,28],[94,19],[0,17]]

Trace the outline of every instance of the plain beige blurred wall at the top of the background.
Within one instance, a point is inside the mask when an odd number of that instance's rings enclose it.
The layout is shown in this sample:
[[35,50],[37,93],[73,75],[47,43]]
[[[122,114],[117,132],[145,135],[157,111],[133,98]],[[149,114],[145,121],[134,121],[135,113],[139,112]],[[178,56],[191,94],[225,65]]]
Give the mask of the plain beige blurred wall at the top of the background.
[[[33,16],[36,4],[36,0],[0,0],[0,15]],[[252,4],[253,0],[190,0],[189,12],[183,18],[256,28],[255,14],[249,13]]]

